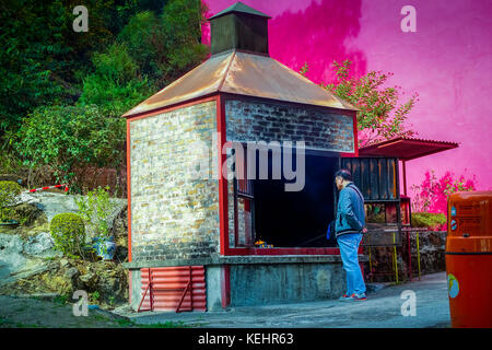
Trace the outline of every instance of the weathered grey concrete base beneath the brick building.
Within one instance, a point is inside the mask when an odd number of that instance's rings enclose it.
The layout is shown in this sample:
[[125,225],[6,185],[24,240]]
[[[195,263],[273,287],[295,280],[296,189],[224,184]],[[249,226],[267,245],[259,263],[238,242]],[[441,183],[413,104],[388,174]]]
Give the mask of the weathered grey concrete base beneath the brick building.
[[[361,262],[365,260],[360,256]],[[209,261],[175,261],[174,266],[197,262],[206,268],[208,311],[336,299],[345,287],[340,256],[227,256]],[[163,265],[173,266],[171,261]],[[137,310],[141,295],[137,264],[132,262],[130,273],[130,305]]]

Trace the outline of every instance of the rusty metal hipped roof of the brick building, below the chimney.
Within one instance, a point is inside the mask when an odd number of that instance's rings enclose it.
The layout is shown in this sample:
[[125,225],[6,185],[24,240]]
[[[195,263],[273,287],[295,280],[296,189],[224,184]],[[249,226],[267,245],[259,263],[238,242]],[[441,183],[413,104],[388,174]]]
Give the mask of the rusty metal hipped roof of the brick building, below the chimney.
[[268,55],[233,50],[218,54],[174,81],[124,117],[183,103],[216,92],[358,110]]

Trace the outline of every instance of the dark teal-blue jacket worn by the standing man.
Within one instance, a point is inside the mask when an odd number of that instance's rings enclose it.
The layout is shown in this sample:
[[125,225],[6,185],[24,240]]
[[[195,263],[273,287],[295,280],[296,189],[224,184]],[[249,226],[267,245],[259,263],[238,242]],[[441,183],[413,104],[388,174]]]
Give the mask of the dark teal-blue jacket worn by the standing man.
[[365,225],[364,197],[359,188],[349,183],[338,199],[335,231],[337,237],[348,233],[362,233]]

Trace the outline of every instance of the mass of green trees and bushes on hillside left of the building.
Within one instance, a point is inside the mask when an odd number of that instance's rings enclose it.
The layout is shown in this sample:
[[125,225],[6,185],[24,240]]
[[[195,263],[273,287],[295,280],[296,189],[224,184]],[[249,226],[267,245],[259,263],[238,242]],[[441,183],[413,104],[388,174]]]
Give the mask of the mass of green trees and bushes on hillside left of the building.
[[[89,32],[72,30],[89,9]],[[126,163],[120,115],[199,65],[198,0],[5,0],[0,7],[0,168],[54,173]],[[51,175],[49,174],[49,177]]]

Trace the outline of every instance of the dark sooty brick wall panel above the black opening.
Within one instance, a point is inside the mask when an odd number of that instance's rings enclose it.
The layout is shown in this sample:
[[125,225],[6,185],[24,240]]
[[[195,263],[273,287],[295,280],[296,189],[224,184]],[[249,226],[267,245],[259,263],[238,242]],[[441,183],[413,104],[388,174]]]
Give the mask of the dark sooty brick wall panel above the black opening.
[[225,102],[227,141],[305,141],[307,149],[353,152],[353,119],[320,108],[257,100]]

